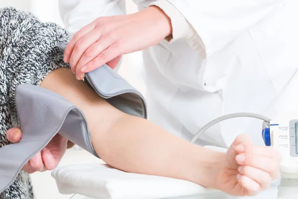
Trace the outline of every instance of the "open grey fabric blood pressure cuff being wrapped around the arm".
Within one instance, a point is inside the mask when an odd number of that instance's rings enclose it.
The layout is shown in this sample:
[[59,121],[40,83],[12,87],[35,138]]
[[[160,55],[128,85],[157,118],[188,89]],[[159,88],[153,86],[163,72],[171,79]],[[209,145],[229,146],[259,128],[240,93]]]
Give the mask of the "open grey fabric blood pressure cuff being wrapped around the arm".
[[[60,47],[64,50],[65,45]],[[108,66],[101,66],[85,77],[85,82],[117,109],[147,118],[144,97]],[[91,144],[84,113],[64,97],[38,86],[23,84],[16,88],[15,102],[22,137],[18,143],[0,148],[0,193],[57,133],[98,157]]]

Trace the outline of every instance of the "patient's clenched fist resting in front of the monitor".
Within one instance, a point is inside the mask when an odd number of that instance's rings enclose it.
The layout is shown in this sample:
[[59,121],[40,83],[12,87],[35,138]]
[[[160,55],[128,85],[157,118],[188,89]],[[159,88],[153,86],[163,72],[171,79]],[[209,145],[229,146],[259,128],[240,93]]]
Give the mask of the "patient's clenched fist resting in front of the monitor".
[[217,187],[232,196],[255,196],[280,176],[280,154],[272,147],[255,146],[239,135],[228,149]]

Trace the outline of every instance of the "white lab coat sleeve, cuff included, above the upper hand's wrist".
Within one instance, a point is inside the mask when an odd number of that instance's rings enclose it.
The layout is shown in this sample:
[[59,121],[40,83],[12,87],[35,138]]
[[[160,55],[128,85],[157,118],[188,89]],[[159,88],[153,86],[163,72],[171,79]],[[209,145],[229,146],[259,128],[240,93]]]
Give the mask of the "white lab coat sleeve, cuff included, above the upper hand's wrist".
[[220,50],[238,34],[270,17],[286,0],[155,0],[171,19],[173,42],[186,39],[205,55]]

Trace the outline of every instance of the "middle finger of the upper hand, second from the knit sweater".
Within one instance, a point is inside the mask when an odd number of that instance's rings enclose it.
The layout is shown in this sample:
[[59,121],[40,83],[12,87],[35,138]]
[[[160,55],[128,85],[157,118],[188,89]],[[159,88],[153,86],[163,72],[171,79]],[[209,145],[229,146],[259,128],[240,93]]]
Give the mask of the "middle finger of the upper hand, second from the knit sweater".
[[[87,57],[90,59],[90,56],[93,54],[92,48],[90,49],[90,46],[94,45],[94,43],[96,43],[98,40],[102,40],[101,34],[101,28],[97,27],[92,31],[86,33],[74,44],[74,49],[72,50],[69,60],[73,73],[75,73],[77,64],[83,55],[87,55]],[[99,43],[99,45],[102,44]]]

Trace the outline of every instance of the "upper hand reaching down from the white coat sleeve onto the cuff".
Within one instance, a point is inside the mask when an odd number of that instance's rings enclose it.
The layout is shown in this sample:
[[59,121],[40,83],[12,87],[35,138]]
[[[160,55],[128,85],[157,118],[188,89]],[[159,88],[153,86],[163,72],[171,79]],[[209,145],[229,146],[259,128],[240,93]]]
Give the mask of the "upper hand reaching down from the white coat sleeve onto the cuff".
[[107,64],[115,68],[121,55],[149,48],[172,33],[170,18],[158,7],[118,16],[99,17],[74,34],[65,49],[76,79]]

